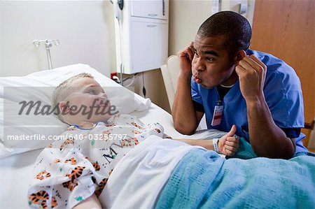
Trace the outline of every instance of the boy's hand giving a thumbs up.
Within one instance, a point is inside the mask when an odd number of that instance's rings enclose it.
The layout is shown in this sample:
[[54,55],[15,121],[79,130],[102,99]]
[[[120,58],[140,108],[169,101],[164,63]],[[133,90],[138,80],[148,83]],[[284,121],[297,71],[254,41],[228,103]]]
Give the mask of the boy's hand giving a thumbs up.
[[237,127],[232,126],[230,132],[222,136],[218,141],[218,151],[222,154],[232,156],[239,149],[239,139],[234,136]]

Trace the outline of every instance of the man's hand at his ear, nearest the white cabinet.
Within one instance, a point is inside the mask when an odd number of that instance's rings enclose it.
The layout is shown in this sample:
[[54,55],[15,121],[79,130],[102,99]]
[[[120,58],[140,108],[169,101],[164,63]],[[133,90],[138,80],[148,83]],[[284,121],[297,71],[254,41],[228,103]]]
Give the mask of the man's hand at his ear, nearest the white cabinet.
[[191,71],[191,62],[194,58],[194,46],[193,42],[191,42],[186,48],[179,51],[177,54],[177,57],[179,57],[179,66],[181,68],[180,73],[187,77],[191,77],[192,71]]

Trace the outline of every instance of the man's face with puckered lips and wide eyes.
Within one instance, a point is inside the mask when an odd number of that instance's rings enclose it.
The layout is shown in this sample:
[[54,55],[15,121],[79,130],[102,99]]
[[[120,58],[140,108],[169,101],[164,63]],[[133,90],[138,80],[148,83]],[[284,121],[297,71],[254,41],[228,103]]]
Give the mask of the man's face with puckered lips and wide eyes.
[[[236,78],[232,57],[224,47],[224,36],[196,36],[194,42],[193,76],[202,87],[213,88],[219,84],[232,85]],[[235,73],[234,73],[235,74]]]

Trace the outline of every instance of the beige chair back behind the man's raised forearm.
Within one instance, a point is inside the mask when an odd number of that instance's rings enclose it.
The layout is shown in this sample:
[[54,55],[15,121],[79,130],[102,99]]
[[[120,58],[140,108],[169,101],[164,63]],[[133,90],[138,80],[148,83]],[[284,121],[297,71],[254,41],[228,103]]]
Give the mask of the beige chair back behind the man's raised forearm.
[[[174,97],[177,87],[177,78],[179,76],[179,59],[175,55],[171,55],[167,58],[167,63],[161,66],[162,77],[167,91],[167,98],[169,99],[169,106],[171,107],[174,103]],[[197,130],[207,129],[206,117],[202,117]]]

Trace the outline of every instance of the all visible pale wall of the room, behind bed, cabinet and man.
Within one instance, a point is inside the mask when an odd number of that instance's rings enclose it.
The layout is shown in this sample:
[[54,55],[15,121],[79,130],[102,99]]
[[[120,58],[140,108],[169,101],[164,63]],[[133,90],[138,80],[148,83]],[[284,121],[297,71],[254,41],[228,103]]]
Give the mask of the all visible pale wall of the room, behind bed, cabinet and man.
[[[245,0],[221,1],[223,10]],[[214,1],[169,0],[169,55],[193,41]],[[248,19],[250,20],[250,19]],[[34,39],[57,38],[52,66],[89,64],[109,76],[116,71],[113,5],[109,1],[0,1],[0,76],[48,69],[45,48]],[[147,97],[170,112],[160,69],[144,73]],[[127,82],[126,82],[127,84]],[[142,92],[142,77],[132,85]]]

